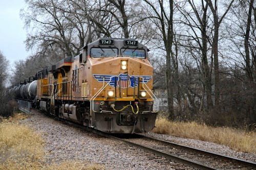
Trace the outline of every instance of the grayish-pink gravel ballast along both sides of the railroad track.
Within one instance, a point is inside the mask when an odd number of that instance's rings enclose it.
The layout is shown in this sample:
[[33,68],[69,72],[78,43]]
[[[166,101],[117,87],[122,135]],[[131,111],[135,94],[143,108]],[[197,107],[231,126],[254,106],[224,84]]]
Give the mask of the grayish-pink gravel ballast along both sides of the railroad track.
[[[122,142],[84,132],[79,128],[47,117],[39,111],[33,110],[33,113],[20,123],[28,125],[44,138],[47,152],[46,163],[59,164],[64,161],[81,160],[84,163],[104,165],[106,169],[193,169],[130,147]],[[155,133],[147,133],[147,135],[223,155],[256,161],[255,154],[235,152],[216,143]]]

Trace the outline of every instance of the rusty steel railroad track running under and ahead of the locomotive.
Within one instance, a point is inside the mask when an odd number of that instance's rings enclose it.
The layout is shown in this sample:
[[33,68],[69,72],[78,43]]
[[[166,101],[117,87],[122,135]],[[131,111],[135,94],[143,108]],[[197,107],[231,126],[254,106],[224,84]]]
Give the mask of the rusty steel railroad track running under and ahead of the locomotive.
[[107,134],[87,128],[79,124],[69,122],[68,120],[63,120],[57,117],[55,117],[55,119],[106,138],[122,141],[132,147],[140,148],[147,152],[154,153],[158,156],[176,161],[177,163],[183,163],[184,165],[197,169],[256,169],[255,162],[207,152],[141,134],[124,135],[120,137],[114,134]]

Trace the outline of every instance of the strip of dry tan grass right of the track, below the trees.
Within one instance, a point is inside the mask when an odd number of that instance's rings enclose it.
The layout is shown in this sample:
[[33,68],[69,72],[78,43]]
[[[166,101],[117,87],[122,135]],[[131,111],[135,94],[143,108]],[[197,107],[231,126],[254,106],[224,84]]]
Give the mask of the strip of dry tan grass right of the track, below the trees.
[[256,153],[256,132],[245,132],[231,128],[214,128],[195,122],[169,122],[165,118],[156,120],[153,132],[178,137],[193,138],[227,145],[242,152]]

